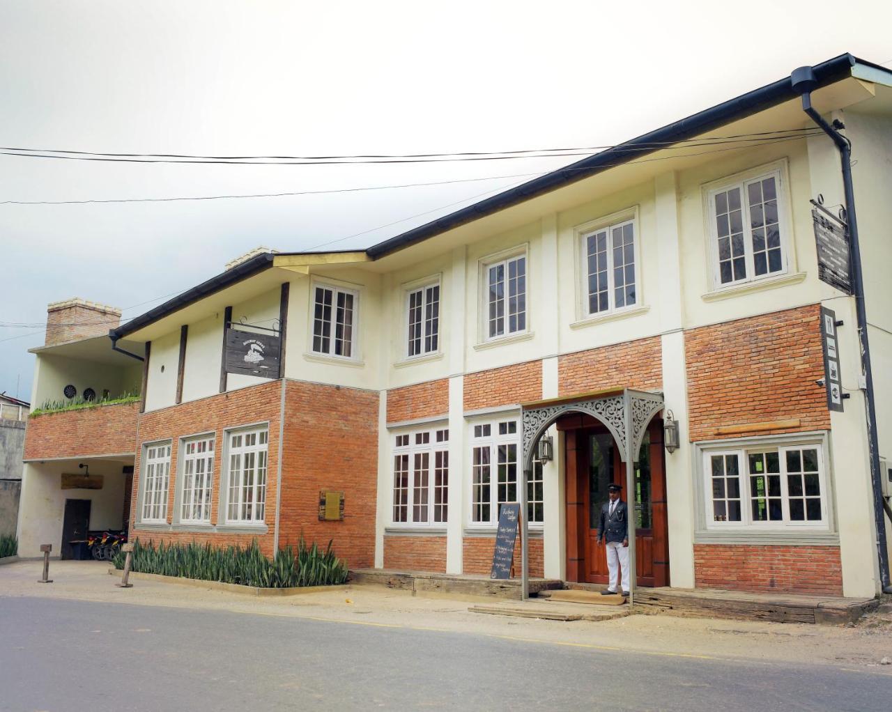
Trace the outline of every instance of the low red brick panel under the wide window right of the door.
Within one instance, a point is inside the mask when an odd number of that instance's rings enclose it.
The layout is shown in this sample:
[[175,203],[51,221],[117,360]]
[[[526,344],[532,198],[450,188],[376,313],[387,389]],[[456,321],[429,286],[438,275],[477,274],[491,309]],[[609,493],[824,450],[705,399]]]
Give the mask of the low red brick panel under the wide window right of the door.
[[695,544],[698,588],[842,595],[838,546]]

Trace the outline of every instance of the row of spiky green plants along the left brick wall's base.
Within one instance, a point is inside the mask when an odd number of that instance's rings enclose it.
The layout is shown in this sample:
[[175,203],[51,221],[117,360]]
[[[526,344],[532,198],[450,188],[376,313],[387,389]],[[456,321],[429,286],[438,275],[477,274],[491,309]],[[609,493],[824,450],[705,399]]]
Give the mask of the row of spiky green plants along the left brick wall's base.
[[[114,558],[116,568],[124,567],[123,552]],[[301,536],[297,552],[289,545],[276,552],[270,561],[260,551],[257,540],[244,549],[212,547],[210,543],[187,544],[161,542],[155,547],[150,540],[133,545],[133,571],[144,574],[182,576],[224,584],[241,584],[258,588],[292,588],[343,584],[347,580],[347,564],[335,557],[332,542],[325,551],[316,543],[307,546]]]

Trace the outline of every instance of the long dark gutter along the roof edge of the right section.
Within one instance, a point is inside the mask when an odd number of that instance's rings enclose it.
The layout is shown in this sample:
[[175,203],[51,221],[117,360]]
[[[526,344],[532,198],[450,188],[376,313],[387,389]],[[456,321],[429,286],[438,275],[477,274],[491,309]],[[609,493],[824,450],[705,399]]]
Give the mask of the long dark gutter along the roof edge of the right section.
[[[852,68],[859,62],[861,61],[852,54],[840,54],[827,62],[815,65],[812,69],[816,87],[823,87],[840,79],[846,79],[851,76]],[[582,161],[576,161],[564,168],[554,170],[541,178],[534,178],[521,186],[511,188],[499,195],[493,195],[491,198],[469,205],[467,208],[462,208],[401,235],[391,237],[369,247],[366,252],[376,259],[384,257],[384,255],[401,250],[410,244],[466,225],[476,219],[505,210],[559,187],[568,186],[583,178],[589,178],[604,170],[631,161],[632,158],[656,153],[665,148],[667,144],[697,137],[706,131],[724,126],[732,120],[744,119],[777,104],[797,98],[797,96],[793,87],[790,86],[789,77],[779,79],[765,87],[747,92],[747,94],[717,104],[706,111],[695,113],[663,128],[657,128],[640,137],[632,138],[631,141],[626,141],[624,144],[596,153]]]

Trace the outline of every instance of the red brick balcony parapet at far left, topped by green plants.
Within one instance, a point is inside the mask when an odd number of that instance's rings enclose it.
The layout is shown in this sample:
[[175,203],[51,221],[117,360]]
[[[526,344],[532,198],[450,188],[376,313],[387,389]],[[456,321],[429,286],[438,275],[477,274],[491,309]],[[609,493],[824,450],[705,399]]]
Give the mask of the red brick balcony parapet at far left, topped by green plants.
[[136,451],[139,403],[97,405],[31,416],[24,459],[79,458]]

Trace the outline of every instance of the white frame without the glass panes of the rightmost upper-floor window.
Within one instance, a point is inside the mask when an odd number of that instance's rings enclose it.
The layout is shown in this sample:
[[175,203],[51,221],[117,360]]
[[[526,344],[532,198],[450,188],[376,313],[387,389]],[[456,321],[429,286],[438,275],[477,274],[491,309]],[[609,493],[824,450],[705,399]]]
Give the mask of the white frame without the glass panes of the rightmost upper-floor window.
[[[788,173],[787,161],[776,161],[766,166],[759,166],[751,170],[742,171],[733,176],[722,178],[703,186],[706,235],[709,239],[709,249],[706,251],[709,255],[708,273],[712,279],[712,290],[714,292],[721,292],[733,287],[777,279],[778,277],[784,277],[791,274],[795,269],[795,254],[793,253],[792,245],[792,224],[789,217],[790,196]],[[766,272],[764,275],[756,276],[753,256],[753,228],[751,224],[747,186],[764,180],[765,178],[774,178],[775,180],[778,231],[780,233],[781,268],[774,272]],[[723,283],[719,261],[719,237],[718,226],[716,225],[715,196],[735,187],[740,190],[746,276]]]

